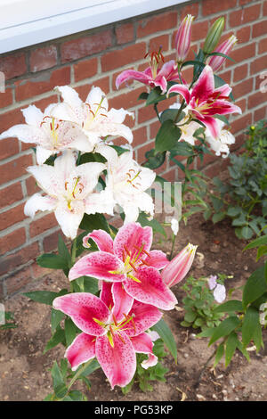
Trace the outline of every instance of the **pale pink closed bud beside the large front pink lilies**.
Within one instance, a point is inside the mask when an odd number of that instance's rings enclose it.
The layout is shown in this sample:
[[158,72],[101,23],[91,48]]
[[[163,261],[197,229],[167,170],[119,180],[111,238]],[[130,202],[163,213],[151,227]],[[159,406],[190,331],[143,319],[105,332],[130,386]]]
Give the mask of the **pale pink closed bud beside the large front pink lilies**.
[[168,287],[180,283],[193,263],[198,246],[188,244],[163,268],[161,276]]

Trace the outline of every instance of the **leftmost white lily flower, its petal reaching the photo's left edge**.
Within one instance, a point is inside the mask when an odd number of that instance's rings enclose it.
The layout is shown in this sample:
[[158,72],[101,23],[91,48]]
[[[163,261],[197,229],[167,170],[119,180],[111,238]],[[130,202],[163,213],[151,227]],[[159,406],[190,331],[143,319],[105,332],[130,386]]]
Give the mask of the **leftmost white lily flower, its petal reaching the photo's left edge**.
[[44,113],[29,105],[22,109],[26,124],[9,128],[0,136],[2,138],[17,137],[22,143],[36,144],[37,164],[43,164],[52,154],[66,149],[90,152],[87,137],[82,129],[69,120],[56,118],[58,103],[52,103]]

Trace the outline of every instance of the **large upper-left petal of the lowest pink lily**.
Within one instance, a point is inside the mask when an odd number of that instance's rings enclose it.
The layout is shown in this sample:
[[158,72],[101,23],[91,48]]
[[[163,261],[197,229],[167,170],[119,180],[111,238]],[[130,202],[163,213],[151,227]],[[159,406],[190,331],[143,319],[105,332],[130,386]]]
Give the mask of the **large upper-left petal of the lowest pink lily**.
[[100,323],[109,318],[109,308],[98,297],[89,292],[74,292],[53,300],[53,308],[70,316],[82,332],[99,336],[106,333]]

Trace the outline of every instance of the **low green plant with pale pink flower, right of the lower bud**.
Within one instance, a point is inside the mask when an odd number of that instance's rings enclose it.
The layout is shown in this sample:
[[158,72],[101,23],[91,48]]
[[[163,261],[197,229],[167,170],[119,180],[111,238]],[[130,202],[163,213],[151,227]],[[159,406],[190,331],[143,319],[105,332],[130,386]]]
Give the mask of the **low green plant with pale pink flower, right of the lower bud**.
[[[206,328],[220,325],[222,313],[216,311],[218,304],[215,300],[217,298],[215,290],[223,291],[223,283],[227,275],[219,274],[218,276],[218,279],[216,276],[199,279],[189,276],[186,279],[182,286],[182,290],[186,292],[186,297],[182,299],[185,310],[182,326],[194,329],[199,327],[204,331]],[[213,279],[215,283],[214,287],[211,287],[210,282]]]

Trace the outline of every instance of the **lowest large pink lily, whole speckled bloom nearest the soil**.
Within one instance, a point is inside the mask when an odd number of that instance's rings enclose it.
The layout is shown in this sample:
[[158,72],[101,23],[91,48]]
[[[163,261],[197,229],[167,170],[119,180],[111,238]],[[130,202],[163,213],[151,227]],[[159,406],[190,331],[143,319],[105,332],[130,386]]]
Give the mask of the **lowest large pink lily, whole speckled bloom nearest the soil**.
[[96,357],[113,389],[133,379],[135,352],[149,354],[145,361],[149,366],[157,364],[151,338],[144,332],[158,323],[162,314],[148,304],[133,303],[121,283],[111,284],[108,292],[102,290],[100,298],[87,292],[58,297],[53,307],[70,316],[82,331],[65,353],[72,370]]

